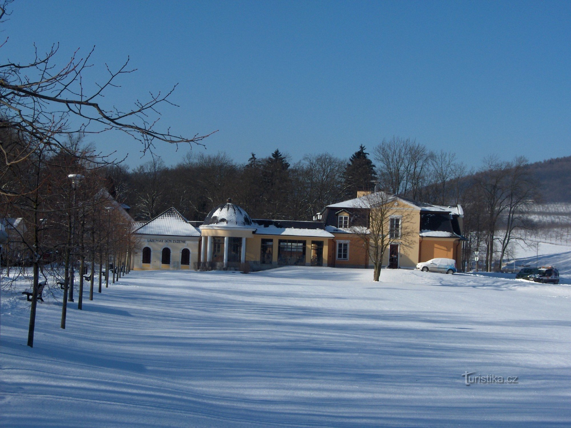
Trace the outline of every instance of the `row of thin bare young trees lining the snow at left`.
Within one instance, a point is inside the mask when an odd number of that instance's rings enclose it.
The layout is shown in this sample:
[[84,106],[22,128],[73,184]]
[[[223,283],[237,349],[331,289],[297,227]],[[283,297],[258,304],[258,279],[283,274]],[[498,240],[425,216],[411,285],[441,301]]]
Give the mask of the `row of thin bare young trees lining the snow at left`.
[[[82,309],[85,278],[93,300],[95,281],[98,292],[103,281],[108,286],[110,261],[112,266],[128,268],[135,240],[130,217],[105,189],[104,167],[93,151],[82,149],[78,139],[63,147],[42,144],[31,150],[25,140],[10,133],[9,128],[2,130],[1,147],[6,159],[18,161],[0,166],[0,216],[21,219],[21,227],[9,229],[0,274],[5,273],[3,290],[31,276],[28,345],[33,346],[38,284],[49,280],[46,289],[58,298],[60,283],[61,328],[65,328],[68,301],[77,300]],[[89,277],[84,277],[87,272]],[[112,282],[120,272],[124,270],[112,269]],[[76,276],[79,284],[74,286]]]

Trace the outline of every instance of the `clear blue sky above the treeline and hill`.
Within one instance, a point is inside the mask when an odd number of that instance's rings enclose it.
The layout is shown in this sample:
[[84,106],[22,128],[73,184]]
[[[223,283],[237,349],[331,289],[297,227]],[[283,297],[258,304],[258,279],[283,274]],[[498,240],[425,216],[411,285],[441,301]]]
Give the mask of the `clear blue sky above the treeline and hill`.
[[[348,158],[393,135],[456,152],[571,155],[571,2],[127,2],[18,0],[3,58],[59,42],[63,62],[95,45],[90,76],[127,56],[109,92],[123,108],[179,83],[163,127],[207,134],[206,152],[245,162],[275,148]],[[140,147],[120,134],[102,151]],[[193,152],[204,150],[195,148]],[[167,164],[188,151],[164,144]]]

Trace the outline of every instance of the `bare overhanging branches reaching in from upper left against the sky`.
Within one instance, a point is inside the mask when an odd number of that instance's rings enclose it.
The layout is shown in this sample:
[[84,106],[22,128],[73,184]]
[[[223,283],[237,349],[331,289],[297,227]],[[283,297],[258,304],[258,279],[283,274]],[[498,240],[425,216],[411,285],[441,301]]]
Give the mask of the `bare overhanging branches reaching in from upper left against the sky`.
[[[7,4],[0,5],[0,23],[6,17]],[[92,83],[86,70],[93,66],[93,49],[85,56],[75,51],[63,66],[56,63],[58,50],[59,46],[53,45],[45,54],[36,49],[34,58],[28,62],[8,59],[0,63],[0,129],[13,130],[27,144],[19,156],[9,156],[0,147],[7,166],[24,160],[42,146],[59,146],[64,150],[65,137],[77,133],[122,131],[141,142],[143,152],[152,152],[155,141],[201,144],[210,135],[184,137],[172,134],[168,128],[158,130],[158,108],[172,104],[169,96],[176,85],[166,93],[150,92],[146,100],[136,100],[132,108],[104,106],[100,102],[110,90],[119,87],[118,80],[135,71],[128,67],[129,60],[116,70],[106,66],[107,77]],[[0,192],[7,192],[2,184]]]

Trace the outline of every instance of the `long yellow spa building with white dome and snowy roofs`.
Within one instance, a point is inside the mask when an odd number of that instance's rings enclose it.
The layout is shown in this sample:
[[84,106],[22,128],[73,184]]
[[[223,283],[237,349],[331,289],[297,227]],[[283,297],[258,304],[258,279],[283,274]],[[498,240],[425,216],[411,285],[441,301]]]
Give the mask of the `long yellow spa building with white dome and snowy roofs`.
[[[139,245],[134,269],[264,270],[284,265],[372,267],[365,240],[374,221],[375,196],[328,205],[313,221],[251,219],[229,199],[208,213],[202,224],[186,220],[170,208],[151,221],[137,224]],[[415,268],[436,257],[461,266],[463,212],[384,194],[391,205],[387,229],[391,243],[383,267]]]

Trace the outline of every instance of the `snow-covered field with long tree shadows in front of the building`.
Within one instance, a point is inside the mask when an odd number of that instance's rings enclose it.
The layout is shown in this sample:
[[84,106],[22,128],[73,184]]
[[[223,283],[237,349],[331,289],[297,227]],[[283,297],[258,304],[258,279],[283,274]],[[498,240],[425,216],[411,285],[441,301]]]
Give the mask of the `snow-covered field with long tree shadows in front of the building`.
[[[2,295],[10,427],[569,426],[571,286],[384,270],[132,272]],[[571,277],[565,277],[569,283]],[[58,294],[59,296],[59,294]],[[87,297],[87,296],[86,296]],[[474,375],[517,383],[464,384]]]

